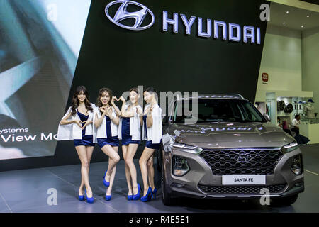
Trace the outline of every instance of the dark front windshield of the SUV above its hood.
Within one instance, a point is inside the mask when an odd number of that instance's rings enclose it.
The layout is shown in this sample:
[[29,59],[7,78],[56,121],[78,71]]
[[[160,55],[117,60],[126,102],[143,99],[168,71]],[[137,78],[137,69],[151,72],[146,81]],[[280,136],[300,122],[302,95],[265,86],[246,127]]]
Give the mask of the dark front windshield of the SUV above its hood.
[[[185,119],[197,117],[204,122],[266,122],[262,114],[249,101],[240,99],[198,99],[198,114],[192,113],[192,101],[183,106],[183,101],[174,103],[174,123],[185,123]],[[184,107],[192,113],[184,114]],[[187,114],[189,115],[189,114]]]

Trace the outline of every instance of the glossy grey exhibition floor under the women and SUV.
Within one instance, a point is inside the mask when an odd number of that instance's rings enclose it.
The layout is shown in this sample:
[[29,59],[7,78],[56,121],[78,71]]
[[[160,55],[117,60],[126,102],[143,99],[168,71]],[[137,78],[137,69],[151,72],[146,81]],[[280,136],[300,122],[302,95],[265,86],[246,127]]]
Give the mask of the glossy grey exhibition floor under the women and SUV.
[[[319,212],[319,145],[302,147],[305,165],[305,192],[291,206],[261,206],[259,201],[179,199],[175,206],[156,200],[127,201],[124,162],[117,165],[111,201],[105,201],[103,173],[107,162],[92,163],[90,183],[94,204],[77,199],[80,165],[0,172],[0,212]],[[138,160],[138,182],[142,184]],[[155,166],[156,170],[156,166]],[[157,177],[159,178],[159,177]],[[158,182],[157,182],[158,183]],[[57,191],[57,205],[50,204],[50,189]]]

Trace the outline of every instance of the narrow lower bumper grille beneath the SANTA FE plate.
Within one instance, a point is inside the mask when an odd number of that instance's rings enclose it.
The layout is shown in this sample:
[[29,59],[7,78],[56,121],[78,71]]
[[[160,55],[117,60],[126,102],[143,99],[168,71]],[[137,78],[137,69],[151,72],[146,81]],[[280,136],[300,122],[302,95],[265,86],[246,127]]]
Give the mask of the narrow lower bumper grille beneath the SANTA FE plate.
[[279,193],[286,189],[287,184],[274,185],[245,185],[245,186],[211,186],[198,184],[198,188],[207,194],[264,194],[262,189],[269,189],[269,193]]

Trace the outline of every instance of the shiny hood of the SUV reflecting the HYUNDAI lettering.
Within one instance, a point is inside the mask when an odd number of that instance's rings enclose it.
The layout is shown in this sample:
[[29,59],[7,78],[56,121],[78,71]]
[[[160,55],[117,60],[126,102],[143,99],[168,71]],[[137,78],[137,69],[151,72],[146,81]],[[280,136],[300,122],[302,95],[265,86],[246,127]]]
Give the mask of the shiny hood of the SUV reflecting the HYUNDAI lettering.
[[272,123],[173,123],[169,134],[179,143],[201,148],[280,148],[294,139]]

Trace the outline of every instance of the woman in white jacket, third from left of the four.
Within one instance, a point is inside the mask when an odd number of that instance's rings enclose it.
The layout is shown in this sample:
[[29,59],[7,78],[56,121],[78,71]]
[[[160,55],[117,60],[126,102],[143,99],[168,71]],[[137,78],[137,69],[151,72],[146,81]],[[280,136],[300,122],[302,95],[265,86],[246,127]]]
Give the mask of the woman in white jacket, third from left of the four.
[[123,158],[125,160],[125,176],[128,183],[128,200],[140,199],[140,184],[136,177],[136,168],[133,162],[136,150],[140,144],[140,116],[142,107],[138,105],[138,88],[130,89],[130,104],[126,104],[121,96],[121,119],[118,127],[118,138],[121,139]]

